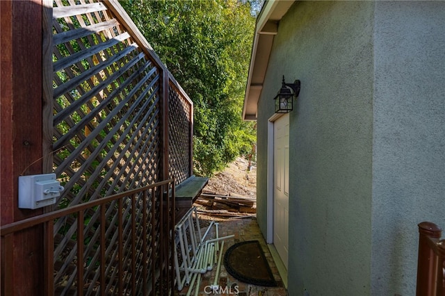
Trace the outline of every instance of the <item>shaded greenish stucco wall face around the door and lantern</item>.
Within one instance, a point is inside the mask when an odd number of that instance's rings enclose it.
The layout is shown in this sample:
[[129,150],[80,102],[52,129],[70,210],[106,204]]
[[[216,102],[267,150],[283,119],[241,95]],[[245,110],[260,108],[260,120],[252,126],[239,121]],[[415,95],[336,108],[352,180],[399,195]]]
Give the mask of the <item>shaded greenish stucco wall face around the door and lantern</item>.
[[258,159],[282,75],[302,85],[290,115],[289,295],[370,293],[373,9],[369,1],[298,1],[275,36]]

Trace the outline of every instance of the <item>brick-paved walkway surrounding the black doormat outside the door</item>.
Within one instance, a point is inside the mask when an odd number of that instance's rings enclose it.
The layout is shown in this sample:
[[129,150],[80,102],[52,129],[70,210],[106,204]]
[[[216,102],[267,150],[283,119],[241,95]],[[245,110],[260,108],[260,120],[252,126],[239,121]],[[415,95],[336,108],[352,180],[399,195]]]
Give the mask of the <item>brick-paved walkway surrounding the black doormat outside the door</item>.
[[[203,224],[205,224],[205,220]],[[242,281],[238,281],[227,273],[225,270],[224,264],[221,263],[221,271],[220,271],[220,291],[218,293],[213,293],[211,291],[210,285],[213,284],[216,275],[216,268],[203,274],[202,282],[200,288],[198,290],[198,295],[240,295],[240,296],[248,296],[248,295],[258,295],[258,296],[286,296],[287,292],[284,288],[282,279],[280,274],[278,273],[277,265],[273,261],[272,256],[270,255],[270,251],[264,240],[261,232],[259,231],[259,227],[257,224],[257,220],[255,218],[243,218],[243,219],[235,219],[235,220],[218,220],[218,234],[220,237],[229,236],[231,234],[234,235],[234,238],[229,238],[224,242],[224,251],[226,251],[229,247],[234,245],[237,242],[243,242],[248,240],[259,240],[261,247],[266,255],[268,260],[270,269],[272,270],[275,281],[277,281],[277,287],[262,287],[262,286],[254,286],[252,284],[243,283]],[[201,225],[203,227],[203,225]],[[214,227],[212,227],[212,230]],[[214,238],[214,232],[211,233],[211,238]],[[195,295],[195,287],[185,287],[181,291],[177,291],[177,295],[185,296],[188,292],[188,288],[193,288],[193,293],[191,295]]]

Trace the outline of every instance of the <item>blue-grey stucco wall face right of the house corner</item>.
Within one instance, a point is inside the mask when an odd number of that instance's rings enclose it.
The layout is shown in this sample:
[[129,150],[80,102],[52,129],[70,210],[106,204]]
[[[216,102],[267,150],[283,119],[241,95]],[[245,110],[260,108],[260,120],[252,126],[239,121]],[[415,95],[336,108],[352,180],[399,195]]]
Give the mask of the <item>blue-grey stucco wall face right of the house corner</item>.
[[375,5],[373,295],[414,295],[418,234],[445,227],[445,2]]

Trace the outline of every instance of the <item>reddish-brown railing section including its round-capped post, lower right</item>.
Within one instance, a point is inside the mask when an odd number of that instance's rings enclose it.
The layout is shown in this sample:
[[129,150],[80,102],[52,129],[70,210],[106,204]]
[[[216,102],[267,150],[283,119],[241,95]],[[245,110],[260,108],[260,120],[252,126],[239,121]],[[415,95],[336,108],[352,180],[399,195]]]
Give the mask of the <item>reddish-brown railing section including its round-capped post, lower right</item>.
[[432,222],[419,225],[417,296],[445,296],[445,239]]

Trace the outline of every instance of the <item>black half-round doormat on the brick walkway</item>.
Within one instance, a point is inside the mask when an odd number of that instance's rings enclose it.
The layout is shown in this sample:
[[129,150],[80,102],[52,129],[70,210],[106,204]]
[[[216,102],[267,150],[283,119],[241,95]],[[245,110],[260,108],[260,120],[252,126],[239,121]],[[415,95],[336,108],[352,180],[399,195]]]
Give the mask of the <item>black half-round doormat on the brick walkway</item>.
[[258,240],[238,242],[224,255],[224,266],[229,274],[256,286],[277,286],[266,256]]

